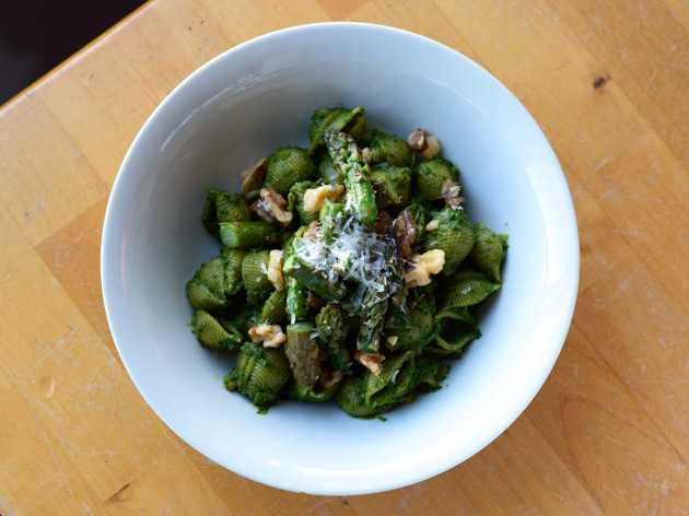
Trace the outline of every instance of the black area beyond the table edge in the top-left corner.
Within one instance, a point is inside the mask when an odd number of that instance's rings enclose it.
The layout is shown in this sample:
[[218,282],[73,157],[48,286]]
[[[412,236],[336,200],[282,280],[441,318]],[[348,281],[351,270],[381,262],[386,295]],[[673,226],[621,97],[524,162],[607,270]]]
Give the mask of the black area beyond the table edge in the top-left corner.
[[0,104],[113,26],[144,0],[4,0]]

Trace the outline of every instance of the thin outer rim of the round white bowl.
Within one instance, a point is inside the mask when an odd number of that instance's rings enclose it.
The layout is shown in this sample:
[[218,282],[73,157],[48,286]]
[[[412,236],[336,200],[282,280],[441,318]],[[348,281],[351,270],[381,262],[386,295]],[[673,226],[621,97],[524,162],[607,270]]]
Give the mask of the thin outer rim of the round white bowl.
[[[567,292],[567,297],[560,300],[561,305],[562,305],[562,308],[558,313],[560,316],[560,331],[559,331],[559,335],[557,336],[557,339],[553,339],[552,347],[549,348],[550,354],[547,356],[547,360],[544,361],[544,363],[546,363],[547,366],[542,368],[538,377],[534,377],[532,379],[530,388],[528,390],[524,389],[524,396],[523,396],[522,402],[519,404],[515,403],[515,406],[513,406],[511,410],[503,411],[503,414],[500,418],[500,424],[495,425],[494,431],[490,435],[483,436],[482,439],[477,439],[474,443],[474,445],[470,447],[471,449],[469,450],[469,453],[466,453],[464,450],[455,450],[455,453],[453,454],[452,452],[448,452],[448,454],[446,455],[446,460],[444,460],[442,464],[435,462],[423,470],[413,470],[413,471],[404,471],[404,472],[400,471],[400,474],[398,474],[394,479],[384,479],[382,481],[378,481],[376,484],[361,485],[357,483],[355,481],[353,481],[351,482],[350,485],[347,485],[344,486],[344,489],[341,489],[338,491],[324,489],[323,486],[319,486],[317,483],[314,483],[313,481],[310,482],[308,480],[294,481],[293,479],[280,479],[280,481],[276,481],[269,476],[264,474],[260,468],[256,468],[256,467],[252,468],[246,462],[242,465],[225,464],[224,461],[217,462],[217,458],[212,457],[212,450],[209,449],[209,447],[206,446],[203,442],[200,442],[198,439],[191,438],[190,436],[182,435],[177,433],[177,430],[174,429],[170,424],[166,418],[159,411],[159,409],[154,406],[154,403],[149,399],[149,395],[147,395],[147,392],[141,388],[141,383],[137,378],[136,374],[133,374],[133,370],[128,362],[128,357],[126,353],[122,353],[122,349],[120,344],[118,344],[118,341],[122,339],[122,335],[117,329],[116,325],[113,324],[115,319],[114,301],[108,302],[108,300],[114,300],[113,298],[114,294],[110,293],[110,289],[108,288],[108,284],[112,281],[115,281],[115,279],[112,278],[112,274],[109,272],[114,270],[110,267],[110,263],[113,260],[117,260],[118,258],[118,254],[114,253],[114,250],[117,249],[118,242],[114,241],[114,238],[112,237],[112,235],[114,234],[113,226],[116,224],[116,218],[118,216],[115,213],[114,199],[116,199],[120,195],[120,191],[124,188],[122,184],[126,180],[125,177],[132,174],[131,172],[128,172],[128,171],[131,171],[133,168],[132,166],[130,166],[130,161],[132,160],[131,156],[133,154],[133,151],[139,145],[142,139],[142,136],[147,131],[150,130],[157,115],[162,110],[166,109],[166,107],[175,101],[175,97],[179,94],[179,92],[183,89],[187,87],[187,85],[194,82],[196,78],[203,74],[206,70],[213,67],[219,61],[223,59],[227,59],[234,54],[244,51],[256,45],[261,45],[271,39],[293,35],[293,34],[302,33],[302,32],[322,31],[324,28],[326,30],[327,28],[335,28],[335,30],[364,28],[364,30],[379,31],[381,33],[393,33],[393,34],[401,35],[408,38],[417,39],[418,42],[435,47],[437,51],[446,52],[446,54],[449,52],[454,59],[464,61],[463,62],[464,66],[471,67],[476,69],[477,71],[479,71],[479,73],[484,74],[488,81],[492,81],[493,83],[495,83],[495,85],[499,89],[503,90],[504,94],[506,94],[509,97],[512,97],[512,99],[516,103],[517,108],[522,110],[522,115],[525,117],[525,119],[533,125],[533,128],[536,131],[535,136],[538,139],[540,139],[539,143],[542,145],[542,149],[545,153],[547,154],[547,157],[549,160],[548,164],[553,167],[553,171],[552,171],[553,175],[557,176],[554,178],[558,183],[557,187],[562,189],[562,191],[567,194],[565,195],[565,198],[568,201],[567,206],[560,207],[562,209],[562,215],[563,215],[563,224],[561,228],[563,230],[563,233],[565,233],[564,235],[561,235],[561,241],[569,243],[569,247],[571,251],[569,259],[572,261],[572,265],[573,265],[572,267],[573,270],[571,271],[572,275],[571,278],[569,278],[570,288],[569,288],[569,291]],[[468,58],[460,51],[455,50],[454,48],[451,48],[447,45],[444,45],[432,38],[429,38],[427,36],[423,36],[423,35],[420,35],[410,31],[393,27],[389,25],[376,24],[376,23],[320,22],[320,23],[295,25],[295,26],[290,26],[290,27],[272,31],[272,32],[253,37],[238,45],[235,45],[234,47],[231,47],[220,52],[219,55],[217,55],[215,57],[213,57],[206,63],[195,69],[184,80],[182,80],[167,95],[165,95],[163,101],[153,109],[151,115],[149,115],[149,117],[147,118],[147,120],[141,126],[136,137],[131,141],[131,144],[129,145],[127,153],[125,154],[125,157],[122,159],[122,162],[117,172],[117,176],[115,177],[115,180],[113,183],[113,187],[108,196],[107,208],[106,208],[104,223],[103,223],[103,234],[101,238],[101,270],[100,272],[101,272],[101,286],[102,286],[103,303],[105,307],[108,329],[112,333],[113,341],[122,361],[125,370],[127,371],[129,377],[131,378],[131,382],[135,384],[135,386],[137,387],[137,390],[141,395],[141,397],[144,399],[147,404],[157,415],[157,418],[160,418],[165,423],[165,425],[170,430],[172,430],[176,435],[179,436],[179,438],[182,438],[186,444],[191,446],[194,449],[196,449],[197,452],[199,452],[200,454],[202,454],[205,457],[209,458],[213,462],[220,464],[220,466],[229,469],[232,472],[235,472],[244,478],[262,483],[265,485],[270,485],[270,486],[287,490],[287,491],[305,492],[305,493],[318,494],[318,495],[355,495],[355,494],[372,494],[372,493],[395,490],[395,489],[412,485],[418,482],[422,482],[440,473],[443,473],[454,468],[455,466],[458,466],[465,460],[469,459],[470,457],[476,455],[478,452],[482,450],[484,447],[491,444],[495,438],[498,438],[505,430],[507,430],[507,427],[514,421],[516,421],[516,419],[519,415],[522,415],[522,413],[526,410],[528,404],[540,391],[542,385],[545,384],[546,379],[550,375],[557,362],[557,359],[562,350],[562,347],[564,345],[565,338],[569,333],[569,330],[572,324],[572,317],[574,315],[574,307],[576,304],[576,296],[577,296],[579,282],[580,282],[580,267],[581,267],[580,260],[581,260],[581,251],[580,251],[580,244],[579,244],[579,230],[577,230],[577,223],[576,223],[576,214],[574,211],[574,203],[572,200],[571,191],[569,189],[565,175],[558,161],[558,157],[552,146],[550,145],[550,142],[546,138],[540,126],[532,116],[532,114],[498,78],[495,78],[486,68],[478,64],[476,61]]]

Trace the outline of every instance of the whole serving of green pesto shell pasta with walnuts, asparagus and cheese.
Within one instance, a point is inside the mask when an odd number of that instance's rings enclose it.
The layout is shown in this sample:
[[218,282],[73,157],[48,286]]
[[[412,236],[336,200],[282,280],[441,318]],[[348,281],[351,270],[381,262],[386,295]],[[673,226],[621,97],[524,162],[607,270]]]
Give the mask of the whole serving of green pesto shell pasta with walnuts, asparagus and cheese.
[[243,192],[208,190],[201,222],[222,245],[186,283],[189,327],[236,356],[224,385],[259,412],[291,399],[376,418],[478,345],[507,237],[471,221],[459,169],[421,132],[323,107],[308,149],[264,156]]

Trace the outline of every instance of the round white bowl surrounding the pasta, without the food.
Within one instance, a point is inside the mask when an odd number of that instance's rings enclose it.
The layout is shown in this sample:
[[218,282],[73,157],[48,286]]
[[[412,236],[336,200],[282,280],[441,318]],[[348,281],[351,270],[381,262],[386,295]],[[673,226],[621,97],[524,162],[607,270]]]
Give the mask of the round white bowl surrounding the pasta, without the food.
[[[225,391],[227,357],[190,333],[185,282],[219,251],[206,189],[278,145],[305,144],[322,106],[362,105],[373,126],[436,133],[469,212],[510,234],[504,289],[447,386],[388,415],[283,402],[267,415]],[[372,493],[445,471],[534,398],[567,336],[579,281],[576,220],[550,145],[519,102],[456,51],[405,31],[327,23],[240,45],[188,77],[135,139],[113,188],[101,263],[108,322],[151,408],[215,462],[276,488]]]

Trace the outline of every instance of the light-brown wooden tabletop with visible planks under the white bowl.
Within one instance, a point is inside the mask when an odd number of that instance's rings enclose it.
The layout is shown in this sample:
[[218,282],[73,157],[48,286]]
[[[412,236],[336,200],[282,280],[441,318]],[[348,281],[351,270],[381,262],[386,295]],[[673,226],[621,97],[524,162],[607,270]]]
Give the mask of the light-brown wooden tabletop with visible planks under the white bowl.
[[[155,105],[247,38],[379,22],[481,62],[568,174],[582,241],[574,325],[538,398],[421,484],[314,497],[244,480],[143,402],[101,298],[103,214]],[[686,0],[157,0],[0,110],[0,513],[689,514]],[[515,342],[515,345],[518,342]]]

